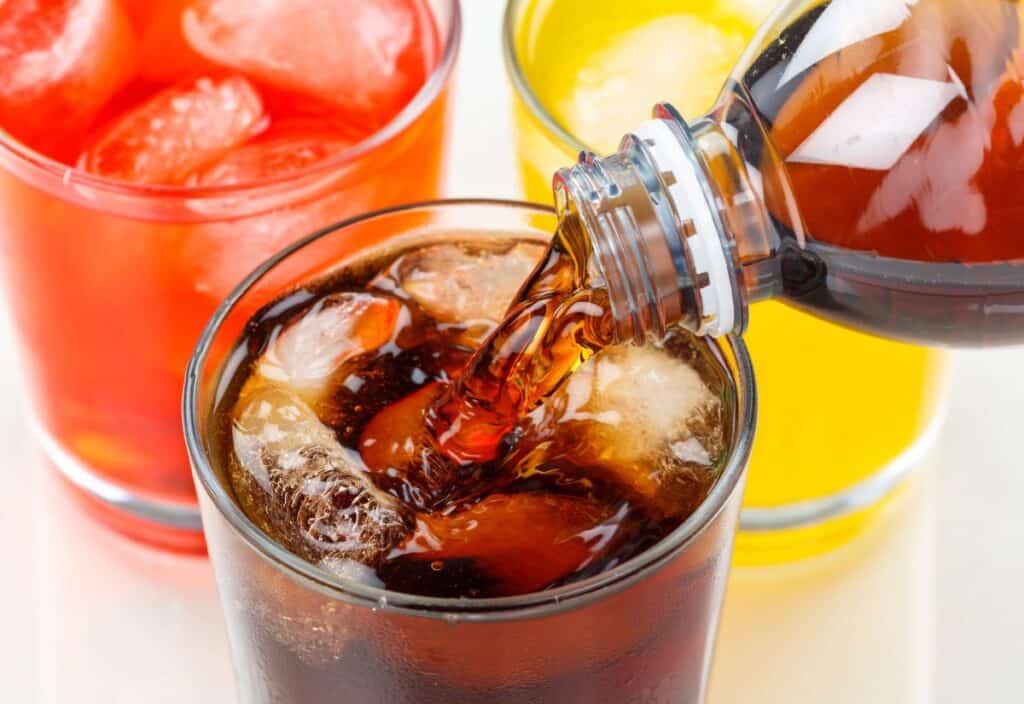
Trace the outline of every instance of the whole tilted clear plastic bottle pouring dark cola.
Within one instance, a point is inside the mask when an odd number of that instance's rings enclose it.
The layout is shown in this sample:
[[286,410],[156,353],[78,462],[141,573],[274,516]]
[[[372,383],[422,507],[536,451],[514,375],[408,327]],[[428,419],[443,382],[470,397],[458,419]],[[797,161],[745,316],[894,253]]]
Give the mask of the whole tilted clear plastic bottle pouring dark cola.
[[706,117],[659,106],[556,189],[641,309],[701,334],[777,297],[911,342],[1022,342],[1020,8],[791,2]]

